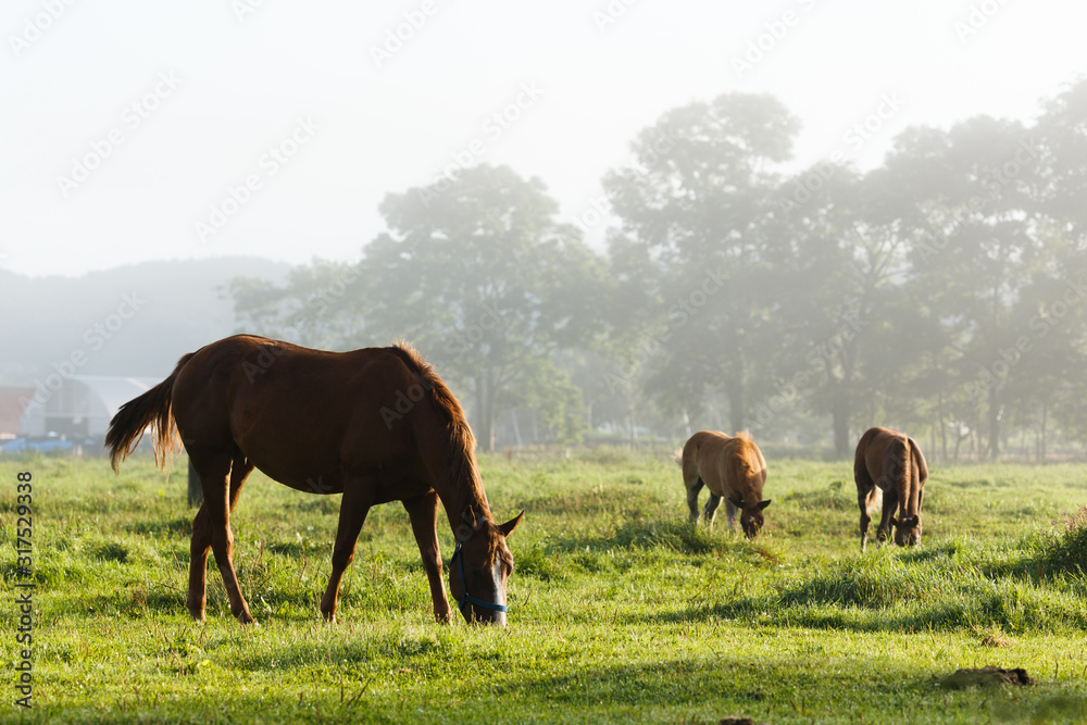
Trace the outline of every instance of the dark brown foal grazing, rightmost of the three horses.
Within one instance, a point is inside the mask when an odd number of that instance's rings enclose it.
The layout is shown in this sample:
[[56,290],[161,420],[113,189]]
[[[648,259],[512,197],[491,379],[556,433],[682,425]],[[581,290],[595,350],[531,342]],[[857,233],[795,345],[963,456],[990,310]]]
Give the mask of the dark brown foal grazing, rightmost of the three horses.
[[[891,428],[869,428],[857,443],[853,459],[857,503],[861,508],[861,551],[869,539],[869,515],[883,491],[883,516],[876,537],[887,540],[895,527],[895,543],[913,546],[921,540],[921,504],[925,500],[928,465],[917,442]],[[895,517],[895,509],[899,515]]]

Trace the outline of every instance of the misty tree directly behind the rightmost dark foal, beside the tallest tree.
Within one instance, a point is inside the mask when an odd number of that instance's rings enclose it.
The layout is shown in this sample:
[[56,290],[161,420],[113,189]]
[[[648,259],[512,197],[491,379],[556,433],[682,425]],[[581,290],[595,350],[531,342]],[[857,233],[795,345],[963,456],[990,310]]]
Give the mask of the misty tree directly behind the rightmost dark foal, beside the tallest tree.
[[[771,321],[773,403],[807,401],[830,418],[835,454],[852,451],[853,424],[867,427],[891,401],[912,322],[903,310],[903,241],[882,212],[883,179],[819,164],[783,184],[767,249],[775,277]],[[769,284],[767,284],[769,286]]]

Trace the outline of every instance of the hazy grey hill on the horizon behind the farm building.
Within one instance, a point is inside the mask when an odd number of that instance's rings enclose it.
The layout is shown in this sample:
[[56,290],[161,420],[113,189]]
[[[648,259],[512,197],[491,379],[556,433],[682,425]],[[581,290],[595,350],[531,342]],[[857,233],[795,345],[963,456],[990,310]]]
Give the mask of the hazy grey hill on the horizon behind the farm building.
[[75,278],[0,270],[0,386],[34,386],[58,370],[165,377],[182,354],[238,332],[226,293],[232,279],[279,283],[289,270],[241,257],[146,262]]

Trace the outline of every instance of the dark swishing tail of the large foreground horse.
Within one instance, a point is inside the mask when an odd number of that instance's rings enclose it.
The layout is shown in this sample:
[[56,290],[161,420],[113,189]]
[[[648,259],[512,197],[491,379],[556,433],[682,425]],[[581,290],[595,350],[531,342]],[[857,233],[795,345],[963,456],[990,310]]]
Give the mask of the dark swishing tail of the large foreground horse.
[[120,472],[122,461],[136,450],[148,426],[154,427],[151,434],[154,462],[159,467],[165,467],[167,454],[176,449],[177,443],[177,426],[171,411],[174,380],[191,357],[192,353],[189,353],[178,360],[170,377],[126,402],[110,421],[105,447],[110,450],[110,463],[114,473]]

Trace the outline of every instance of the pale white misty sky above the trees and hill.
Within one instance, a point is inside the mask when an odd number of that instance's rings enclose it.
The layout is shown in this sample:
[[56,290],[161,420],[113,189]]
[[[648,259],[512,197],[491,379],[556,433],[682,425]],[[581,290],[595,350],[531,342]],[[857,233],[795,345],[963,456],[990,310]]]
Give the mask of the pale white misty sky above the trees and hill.
[[640,128],[727,91],[803,121],[798,167],[866,168],[908,125],[1029,121],[1087,27],[1047,0],[70,1],[0,9],[0,267],[24,274],[354,260],[387,192],[451,164],[538,176],[574,221]]

